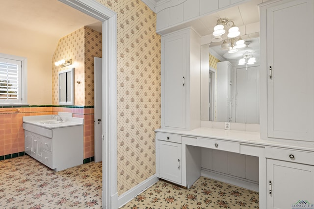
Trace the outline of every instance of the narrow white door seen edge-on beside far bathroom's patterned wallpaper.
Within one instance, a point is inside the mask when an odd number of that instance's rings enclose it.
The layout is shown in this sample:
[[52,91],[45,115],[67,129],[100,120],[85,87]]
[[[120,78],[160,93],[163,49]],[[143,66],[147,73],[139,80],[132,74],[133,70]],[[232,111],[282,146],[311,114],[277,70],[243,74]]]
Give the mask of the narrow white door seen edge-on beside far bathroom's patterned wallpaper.
[[103,160],[103,85],[102,85],[102,58],[94,58],[94,143],[95,163]]

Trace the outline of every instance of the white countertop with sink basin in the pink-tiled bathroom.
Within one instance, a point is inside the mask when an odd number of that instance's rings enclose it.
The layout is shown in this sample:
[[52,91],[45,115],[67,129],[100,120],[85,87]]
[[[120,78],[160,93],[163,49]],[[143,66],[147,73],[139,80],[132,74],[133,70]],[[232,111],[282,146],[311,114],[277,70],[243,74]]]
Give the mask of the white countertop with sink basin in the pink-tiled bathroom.
[[42,116],[23,116],[23,122],[27,124],[36,125],[43,128],[53,129],[53,128],[63,128],[69,126],[84,125],[84,119],[79,117],[64,117],[61,116],[63,121],[59,123],[41,123],[45,120],[55,120],[52,118],[54,115],[42,115]]

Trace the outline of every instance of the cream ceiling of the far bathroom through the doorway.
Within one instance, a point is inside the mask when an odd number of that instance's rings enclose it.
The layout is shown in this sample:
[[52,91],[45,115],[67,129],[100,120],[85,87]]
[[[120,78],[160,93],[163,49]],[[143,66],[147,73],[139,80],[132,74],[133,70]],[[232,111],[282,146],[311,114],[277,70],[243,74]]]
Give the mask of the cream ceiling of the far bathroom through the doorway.
[[58,0],[1,0],[1,8],[0,25],[6,31],[0,37],[14,39],[10,47],[21,50],[45,50],[52,55],[60,38],[85,25],[97,31],[102,28],[98,20]]

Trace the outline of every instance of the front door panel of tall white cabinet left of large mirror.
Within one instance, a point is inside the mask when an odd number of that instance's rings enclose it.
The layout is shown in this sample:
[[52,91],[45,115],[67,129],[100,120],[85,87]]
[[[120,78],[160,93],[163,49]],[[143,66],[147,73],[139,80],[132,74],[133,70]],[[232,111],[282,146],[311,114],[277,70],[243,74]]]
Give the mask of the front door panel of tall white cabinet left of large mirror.
[[163,37],[162,52],[164,127],[186,128],[186,34]]

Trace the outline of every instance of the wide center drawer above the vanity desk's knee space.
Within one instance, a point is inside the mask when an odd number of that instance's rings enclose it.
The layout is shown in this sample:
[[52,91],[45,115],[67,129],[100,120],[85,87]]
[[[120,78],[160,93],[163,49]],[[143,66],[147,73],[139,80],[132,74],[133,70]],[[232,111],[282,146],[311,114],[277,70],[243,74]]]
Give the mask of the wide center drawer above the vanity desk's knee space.
[[197,138],[197,146],[240,153],[240,144],[230,141]]

